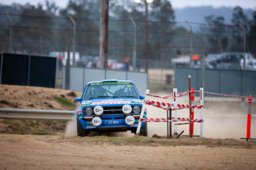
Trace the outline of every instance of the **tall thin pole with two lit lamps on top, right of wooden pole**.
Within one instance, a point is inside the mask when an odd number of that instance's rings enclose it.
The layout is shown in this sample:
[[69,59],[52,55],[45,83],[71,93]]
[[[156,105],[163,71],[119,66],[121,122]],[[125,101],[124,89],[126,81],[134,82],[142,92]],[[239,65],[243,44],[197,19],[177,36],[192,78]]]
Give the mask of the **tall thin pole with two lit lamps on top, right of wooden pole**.
[[[148,3],[154,0],[145,0],[145,72],[148,72]],[[141,3],[141,0],[134,0],[135,3]]]

